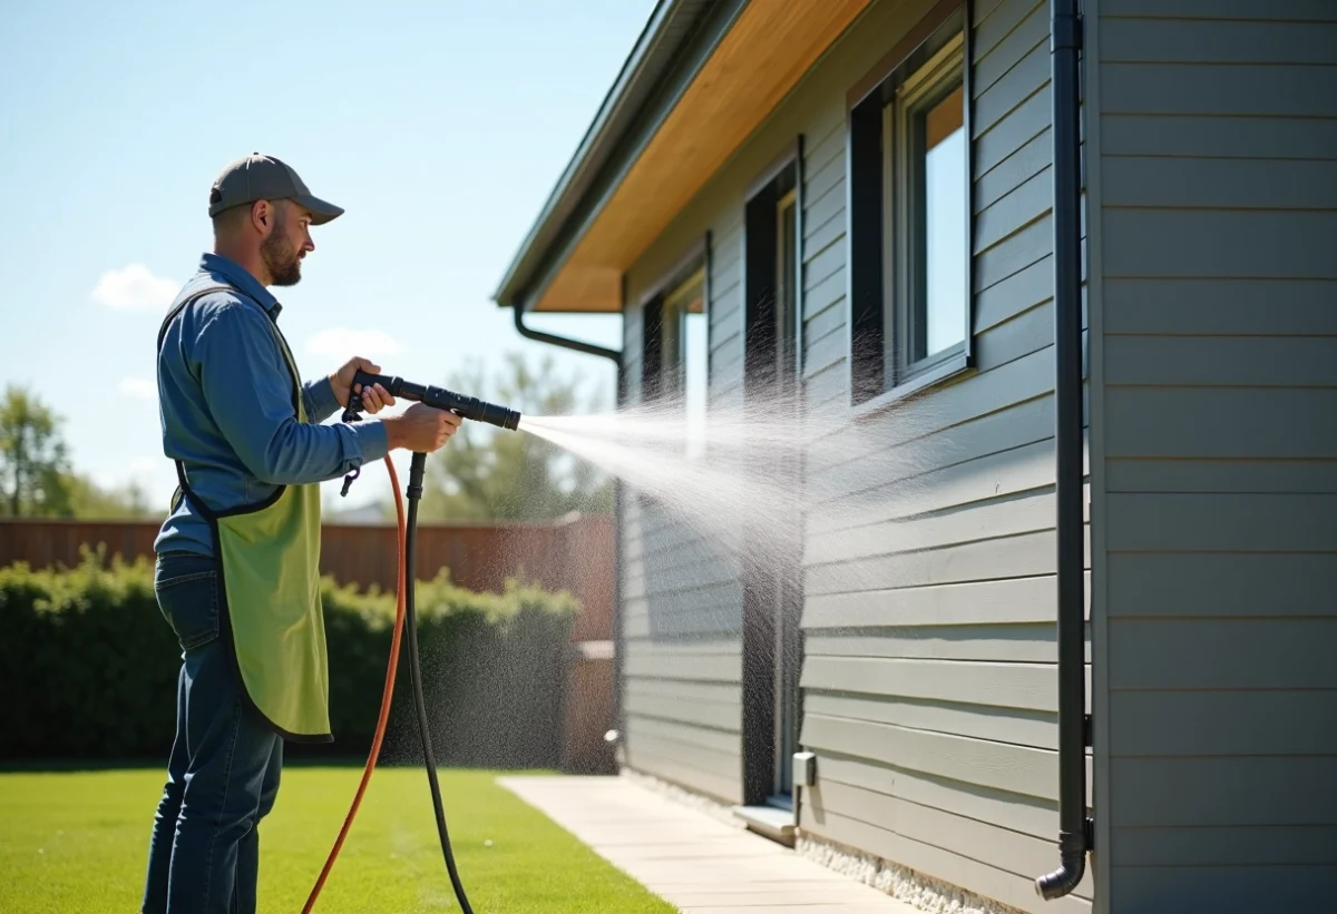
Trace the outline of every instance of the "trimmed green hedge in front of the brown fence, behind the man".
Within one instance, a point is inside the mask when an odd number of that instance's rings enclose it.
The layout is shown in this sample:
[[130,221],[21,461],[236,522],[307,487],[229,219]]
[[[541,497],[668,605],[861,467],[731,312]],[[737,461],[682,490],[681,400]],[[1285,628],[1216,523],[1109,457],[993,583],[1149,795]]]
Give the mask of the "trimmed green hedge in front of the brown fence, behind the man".
[[[180,648],[154,596],[152,563],[0,568],[0,758],[159,758],[171,750]],[[365,755],[385,683],[394,595],[324,581],[334,743],[290,755]],[[509,583],[417,588],[418,647],[441,764],[554,767],[560,748],[567,593]],[[418,760],[408,637],[384,762]]]

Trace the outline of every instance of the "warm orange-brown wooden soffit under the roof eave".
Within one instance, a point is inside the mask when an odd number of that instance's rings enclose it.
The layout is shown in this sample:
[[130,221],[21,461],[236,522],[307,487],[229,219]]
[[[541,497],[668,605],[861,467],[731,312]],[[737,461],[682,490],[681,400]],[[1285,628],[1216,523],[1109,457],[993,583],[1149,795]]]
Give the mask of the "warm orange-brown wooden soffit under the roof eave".
[[622,274],[869,1],[751,0],[533,310],[619,311]]

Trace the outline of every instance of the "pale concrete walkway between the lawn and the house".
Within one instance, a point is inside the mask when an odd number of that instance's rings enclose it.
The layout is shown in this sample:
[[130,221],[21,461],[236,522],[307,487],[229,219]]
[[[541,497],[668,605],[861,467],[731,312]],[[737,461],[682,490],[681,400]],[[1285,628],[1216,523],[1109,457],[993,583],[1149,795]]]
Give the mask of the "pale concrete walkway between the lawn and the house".
[[870,886],[624,778],[501,778],[682,914],[917,914]]

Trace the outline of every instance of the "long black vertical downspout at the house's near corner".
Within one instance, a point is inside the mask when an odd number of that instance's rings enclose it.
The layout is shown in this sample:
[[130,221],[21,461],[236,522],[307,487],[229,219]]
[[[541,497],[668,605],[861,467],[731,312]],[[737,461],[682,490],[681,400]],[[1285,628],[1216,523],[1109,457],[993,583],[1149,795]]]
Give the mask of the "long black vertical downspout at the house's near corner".
[[1086,815],[1086,593],[1082,432],[1082,148],[1078,0],[1050,0],[1054,104],[1055,501],[1058,502],[1059,869],[1035,881],[1046,899],[1082,882]]

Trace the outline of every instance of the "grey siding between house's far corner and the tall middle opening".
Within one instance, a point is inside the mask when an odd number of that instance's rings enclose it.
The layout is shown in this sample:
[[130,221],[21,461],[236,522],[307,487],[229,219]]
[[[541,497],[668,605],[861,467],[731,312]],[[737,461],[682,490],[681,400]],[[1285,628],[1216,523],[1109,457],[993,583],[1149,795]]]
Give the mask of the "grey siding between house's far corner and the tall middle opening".
[[[697,235],[699,238],[699,234]],[[742,224],[711,235],[707,290],[710,402],[727,401],[727,379],[742,365]],[[675,262],[682,250],[662,253]],[[648,274],[654,275],[647,270]],[[640,290],[632,277],[631,301]],[[632,347],[639,353],[639,321]],[[639,401],[634,371],[632,402]],[[722,379],[725,384],[721,384]],[[636,493],[624,500],[623,710],[627,763],[721,802],[741,799],[742,655],[737,561],[721,544]]]

